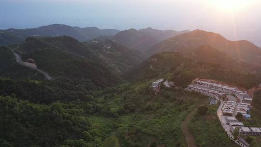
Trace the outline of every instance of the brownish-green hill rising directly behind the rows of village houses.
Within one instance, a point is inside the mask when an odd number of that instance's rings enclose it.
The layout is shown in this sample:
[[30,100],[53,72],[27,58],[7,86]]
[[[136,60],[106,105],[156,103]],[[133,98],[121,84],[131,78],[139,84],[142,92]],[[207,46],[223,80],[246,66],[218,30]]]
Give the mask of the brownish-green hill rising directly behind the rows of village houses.
[[[204,49],[215,49],[211,47],[200,47],[195,52],[201,52]],[[200,51],[198,51],[200,50]],[[221,54],[224,55],[224,54]],[[194,55],[196,56],[196,55]],[[198,56],[198,57],[201,57]],[[215,55],[211,55],[215,57]],[[225,57],[225,60],[231,60]],[[210,59],[206,59],[211,61]],[[215,61],[216,60],[216,61]],[[215,62],[206,62],[197,59],[191,59],[180,52],[161,52],[152,55],[149,59],[142,62],[139,66],[131,69],[124,77],[130,81],[146,81],[166,77],[169,81],[174,81],[176,86],[187,87],[195,78],[214,79],[217,81],[228,82],[244,88],[252,88],[261,82],[260,72],[234,70],[224,66],[225,63],[217,62],[219,59],[213,59]],[[228,63],[231,64],[231,63]],[[232,62],[239,69],[241,66],[237,62]]]

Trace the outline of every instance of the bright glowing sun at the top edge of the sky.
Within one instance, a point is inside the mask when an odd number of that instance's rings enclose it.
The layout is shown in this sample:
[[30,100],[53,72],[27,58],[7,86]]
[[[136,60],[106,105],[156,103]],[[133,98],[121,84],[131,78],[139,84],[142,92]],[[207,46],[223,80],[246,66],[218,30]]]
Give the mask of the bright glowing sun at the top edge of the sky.
[[249,0],[211,0],[212,4],[223,11],[237,11],[249,4]]

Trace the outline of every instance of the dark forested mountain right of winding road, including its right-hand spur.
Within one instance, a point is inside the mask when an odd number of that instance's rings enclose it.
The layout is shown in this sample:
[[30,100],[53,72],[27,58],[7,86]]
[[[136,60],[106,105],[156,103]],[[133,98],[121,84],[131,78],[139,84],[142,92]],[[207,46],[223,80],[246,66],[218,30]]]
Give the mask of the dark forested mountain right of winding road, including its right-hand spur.
[[15,52],[54,77],[87,78],[99,87],[115,85],[120,74],[144,59],[139,51],[110,40],[81,43],[69,36],[29,37]]

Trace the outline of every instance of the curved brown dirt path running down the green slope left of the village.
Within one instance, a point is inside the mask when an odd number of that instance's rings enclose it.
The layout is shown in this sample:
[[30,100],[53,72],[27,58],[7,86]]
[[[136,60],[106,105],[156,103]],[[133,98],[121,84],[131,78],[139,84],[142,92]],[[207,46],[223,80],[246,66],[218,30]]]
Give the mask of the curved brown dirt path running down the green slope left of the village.
[[[200,106],[203,106],[204,104],[208,103],[205,102],[203,104],[201,104]],[[198,107],[200,107],[198,106]],[[188,123],[190,122],[191,118],[194,116],[194,114],[197,112],[198,110],[198,107],[197,108],[194,108],[189,114],[188,116],[185,118],[185,120],[181,123],[181,130],[183,132],[183,135],[184,137],[186,138],[186,142],[187,142],[187,147],[197,147],[195,142],[194,142],[194,136],[193,134],[191,134],[189,132],[189,129],[188,129]]]

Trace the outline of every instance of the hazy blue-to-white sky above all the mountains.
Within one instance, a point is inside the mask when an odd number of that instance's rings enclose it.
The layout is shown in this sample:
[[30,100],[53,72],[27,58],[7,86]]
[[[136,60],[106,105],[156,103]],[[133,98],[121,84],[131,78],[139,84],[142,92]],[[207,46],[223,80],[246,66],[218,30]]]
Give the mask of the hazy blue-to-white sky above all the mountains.
[[244,39],[260,34],[261,0],[0,0],[0,29],[54,23],[120,30],[204,29]]

